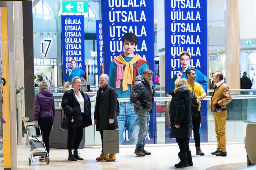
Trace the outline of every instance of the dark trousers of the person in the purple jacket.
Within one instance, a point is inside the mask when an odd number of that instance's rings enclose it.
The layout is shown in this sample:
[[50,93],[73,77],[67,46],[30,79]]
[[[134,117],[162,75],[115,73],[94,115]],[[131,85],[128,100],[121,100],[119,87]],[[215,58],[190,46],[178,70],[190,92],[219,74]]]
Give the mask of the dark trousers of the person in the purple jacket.
[[[50,152],[49,136],[52,130],[53,118],[43,117],[38,119],[38,125],[40,126],[43,142],[45,143],[45,148],[47,153]],[[36,135],[40,135],[39,128],[36,128]]]

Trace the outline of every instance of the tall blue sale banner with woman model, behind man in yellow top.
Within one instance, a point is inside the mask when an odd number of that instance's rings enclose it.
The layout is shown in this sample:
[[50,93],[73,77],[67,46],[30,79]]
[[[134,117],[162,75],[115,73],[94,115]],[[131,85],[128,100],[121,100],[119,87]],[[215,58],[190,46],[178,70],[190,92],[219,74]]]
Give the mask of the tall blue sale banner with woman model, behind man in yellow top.
[[[165,0],[165,64],[166,93],[174,90],[174,81],[181,76],[186,79],[187,68],[196,71],[195,82],[207,89],[207,1],[205,0]],[[182,64],[179,55],[182,51],[191,54],[187,67]],[[177,76],[179,73],[179,76]],[[180,74],[181,73],[181,74]],[[201,142],[208,142],[207,102],[201,102]],[[169,114],[167,114],[169,115]],[[169,121],[169,118],[166,119]],[[168,124],[168,123],[166,123]],[[169,138],[166,127],[166,143],[176,142]],[[192,134],[191,141],[194,141]]]

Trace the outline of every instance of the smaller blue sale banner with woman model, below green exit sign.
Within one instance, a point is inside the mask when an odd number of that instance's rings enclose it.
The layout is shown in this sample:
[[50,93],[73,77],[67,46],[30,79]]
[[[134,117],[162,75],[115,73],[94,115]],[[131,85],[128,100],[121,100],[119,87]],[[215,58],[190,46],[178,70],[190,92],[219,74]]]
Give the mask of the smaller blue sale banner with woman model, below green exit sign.
[[[61,16],[62,38],[62,72],[63,81],[68,81],[67,76],[71,69],[70,60],[76,60],[77,73],[84,73],[84,16],[62,15]],[[80,69],[82,71],[80,71]],[[80,74],[73,75],[73,77]]]

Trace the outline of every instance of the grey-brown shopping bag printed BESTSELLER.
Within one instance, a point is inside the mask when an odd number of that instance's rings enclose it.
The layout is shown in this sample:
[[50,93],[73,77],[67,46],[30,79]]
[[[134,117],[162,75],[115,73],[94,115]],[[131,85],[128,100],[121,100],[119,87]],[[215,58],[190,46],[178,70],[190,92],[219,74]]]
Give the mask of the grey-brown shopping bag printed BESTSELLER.
[[103,153],[119,153],[119,130],[103,130]]

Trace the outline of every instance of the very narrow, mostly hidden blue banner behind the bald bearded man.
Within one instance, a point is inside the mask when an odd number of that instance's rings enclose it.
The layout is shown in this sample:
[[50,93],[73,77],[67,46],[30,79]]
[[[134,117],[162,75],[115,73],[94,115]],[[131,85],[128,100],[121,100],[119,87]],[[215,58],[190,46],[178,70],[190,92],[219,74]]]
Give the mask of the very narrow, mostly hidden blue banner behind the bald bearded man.
[[102,37],[102,21],[101,20],[96,20],[96,40],[97,40],[98,76],[100,77],[103,71],[103,37]]

